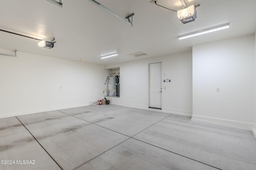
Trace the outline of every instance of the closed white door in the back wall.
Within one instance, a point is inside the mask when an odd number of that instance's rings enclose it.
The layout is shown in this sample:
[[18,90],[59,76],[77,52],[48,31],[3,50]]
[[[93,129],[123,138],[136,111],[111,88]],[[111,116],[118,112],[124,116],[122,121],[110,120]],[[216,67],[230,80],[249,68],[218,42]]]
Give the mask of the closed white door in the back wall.
[[162,63],[149,64],[149,107],[162,108]]

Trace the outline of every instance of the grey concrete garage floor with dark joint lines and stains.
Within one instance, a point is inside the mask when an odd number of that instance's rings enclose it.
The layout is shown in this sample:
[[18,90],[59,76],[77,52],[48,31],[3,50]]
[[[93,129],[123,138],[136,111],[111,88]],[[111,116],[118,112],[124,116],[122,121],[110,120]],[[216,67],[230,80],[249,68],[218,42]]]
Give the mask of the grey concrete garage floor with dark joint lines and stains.
[[255,170],[256,139],[186,116],[93,105],[0,119],[0,160],[9,163],[1,170]]

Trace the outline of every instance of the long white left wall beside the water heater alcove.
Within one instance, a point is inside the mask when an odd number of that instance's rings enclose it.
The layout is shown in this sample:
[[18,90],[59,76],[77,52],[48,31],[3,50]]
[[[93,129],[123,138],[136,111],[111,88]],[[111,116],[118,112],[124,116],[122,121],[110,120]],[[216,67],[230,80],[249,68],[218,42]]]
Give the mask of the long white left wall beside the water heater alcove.
[[[13,53],[0,49],[0,53]],[[102,65],[17,52],[0,55],[0,118],[87,106],[102,98]],[[62,87],[62,89],[60,89]]]

